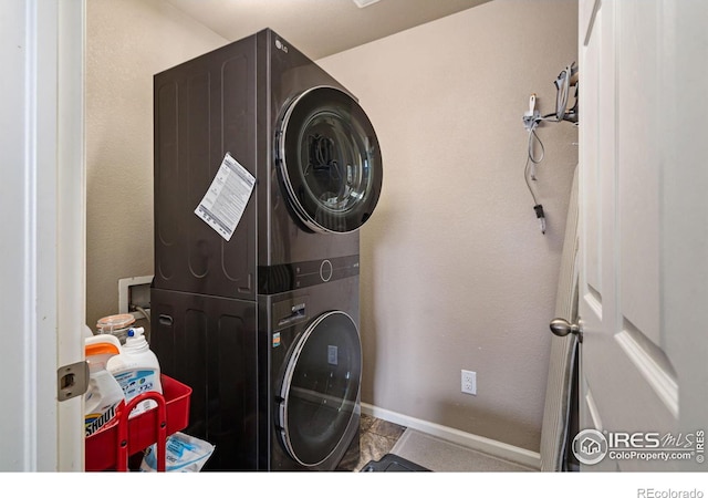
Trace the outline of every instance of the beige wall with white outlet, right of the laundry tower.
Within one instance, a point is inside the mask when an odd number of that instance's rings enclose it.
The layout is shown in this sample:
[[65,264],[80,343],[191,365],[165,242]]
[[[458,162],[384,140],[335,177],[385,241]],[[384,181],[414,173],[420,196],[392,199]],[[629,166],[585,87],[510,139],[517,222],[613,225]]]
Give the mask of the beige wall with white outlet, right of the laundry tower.
[[[362,401],[539,450],[577,131],[545,124],[538,193],[523,112],[576,61],[574,1],[496,0],[319,61],[360,97],[384,156],[362,231]],[[460,370],[477,372],[477,396]]]

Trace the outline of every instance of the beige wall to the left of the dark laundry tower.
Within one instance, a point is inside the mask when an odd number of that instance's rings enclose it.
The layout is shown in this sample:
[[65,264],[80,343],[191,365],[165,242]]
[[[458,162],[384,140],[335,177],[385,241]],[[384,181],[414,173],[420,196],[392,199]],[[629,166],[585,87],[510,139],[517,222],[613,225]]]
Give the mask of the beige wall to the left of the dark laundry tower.
[[228,41],[163,0],[86,2],[86,324],[153,274],[153,75]]

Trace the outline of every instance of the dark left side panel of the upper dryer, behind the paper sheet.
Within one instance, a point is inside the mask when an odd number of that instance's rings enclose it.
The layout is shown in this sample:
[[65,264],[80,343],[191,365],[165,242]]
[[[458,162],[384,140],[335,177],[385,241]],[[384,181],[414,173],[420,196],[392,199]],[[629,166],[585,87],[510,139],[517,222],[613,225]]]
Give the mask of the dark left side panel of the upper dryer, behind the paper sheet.
[[158,289],[254,299],[253,198],[228,242],[194,210],[227,152],[256,176],[256,58],[249,38],[155,75]]

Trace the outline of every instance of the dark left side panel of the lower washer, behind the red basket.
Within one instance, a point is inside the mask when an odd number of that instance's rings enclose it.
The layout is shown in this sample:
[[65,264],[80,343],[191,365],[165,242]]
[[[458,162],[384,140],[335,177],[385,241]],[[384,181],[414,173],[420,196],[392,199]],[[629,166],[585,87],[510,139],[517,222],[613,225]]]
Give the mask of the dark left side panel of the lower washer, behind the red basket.
[[205,470],[258,468],[254,302],[152,290],[150,349],[192,388],[184,430],[216,445]]

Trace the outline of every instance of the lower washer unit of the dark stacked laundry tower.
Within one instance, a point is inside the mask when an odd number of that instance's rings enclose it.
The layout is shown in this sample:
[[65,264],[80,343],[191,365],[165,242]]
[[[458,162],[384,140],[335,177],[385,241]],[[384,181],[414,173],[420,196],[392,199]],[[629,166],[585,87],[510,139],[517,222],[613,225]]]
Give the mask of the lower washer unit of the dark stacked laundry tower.
[[[192,387],[205,470],[335,470],[358,453],[358,276],[256,302],[153,289],[150,346]],[[354,457],[354,461],[356,458]]]

